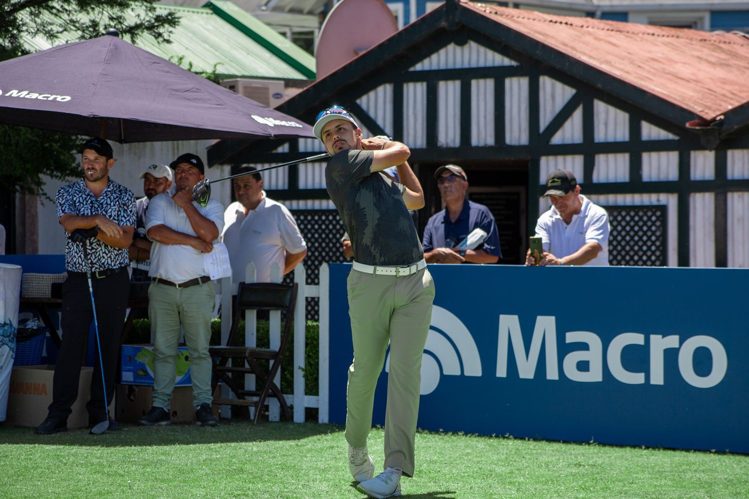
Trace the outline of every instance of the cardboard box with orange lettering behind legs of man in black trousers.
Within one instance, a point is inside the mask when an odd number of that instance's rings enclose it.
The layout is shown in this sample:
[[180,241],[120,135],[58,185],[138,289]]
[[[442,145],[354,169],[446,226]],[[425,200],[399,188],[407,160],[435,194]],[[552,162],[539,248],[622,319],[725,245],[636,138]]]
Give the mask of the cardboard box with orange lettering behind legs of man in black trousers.
[[[10,373],[10,394],[7,399],[7,421],[19,426],[39,426],[52,403],[52,376],[55,366],[19,366]],[[91,367],[81,368],[78,399],[67,418],[69,429],[88,426],[86,402],[91,396]],[[109,403],[112,410],[112,402]]]

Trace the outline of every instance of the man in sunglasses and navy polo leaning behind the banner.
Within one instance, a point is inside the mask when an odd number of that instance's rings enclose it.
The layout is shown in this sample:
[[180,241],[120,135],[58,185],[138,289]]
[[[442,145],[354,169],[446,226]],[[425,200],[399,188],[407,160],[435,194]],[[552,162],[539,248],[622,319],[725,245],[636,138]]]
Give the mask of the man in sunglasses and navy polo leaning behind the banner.
[[[502,250],[494,215],[483,204],[466,199],[466,172],[458,165],[445,165],[437,168],[434,178],[445,209],[432,215],[424,227],[427,263],[497,263]],[[455,249],[476,228],[488,234],[484,242],[476,249]]]

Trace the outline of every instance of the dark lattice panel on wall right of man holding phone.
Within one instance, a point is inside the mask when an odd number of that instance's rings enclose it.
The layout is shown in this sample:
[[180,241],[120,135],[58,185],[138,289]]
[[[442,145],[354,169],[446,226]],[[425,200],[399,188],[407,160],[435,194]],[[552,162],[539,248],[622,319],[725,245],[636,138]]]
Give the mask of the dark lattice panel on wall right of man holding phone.
[[610,265],[667,264],[666,206],[604,206],[609,214]]

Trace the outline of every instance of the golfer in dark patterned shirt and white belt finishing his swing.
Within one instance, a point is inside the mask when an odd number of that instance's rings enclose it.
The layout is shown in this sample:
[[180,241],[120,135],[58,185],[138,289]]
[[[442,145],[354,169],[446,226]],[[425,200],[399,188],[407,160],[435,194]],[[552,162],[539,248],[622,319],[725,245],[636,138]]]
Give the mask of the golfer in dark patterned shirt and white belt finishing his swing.
[[[313,131],[332,156],[325,168],[327,191],[354,249],[347,282],[354,340],[354,362],[348,370],[348,467],[361,491],[389,498],[401,495],[402,475],[413,477],[421,361],[434,301],[434,282],[408,213],[424,206],[424,194],[406,163],[408,147],[362,138],[344,108],[322,111]],[[401,183],[380,173],[395,165]],[[385,471],[373,477],[367,435],[388,342]]]

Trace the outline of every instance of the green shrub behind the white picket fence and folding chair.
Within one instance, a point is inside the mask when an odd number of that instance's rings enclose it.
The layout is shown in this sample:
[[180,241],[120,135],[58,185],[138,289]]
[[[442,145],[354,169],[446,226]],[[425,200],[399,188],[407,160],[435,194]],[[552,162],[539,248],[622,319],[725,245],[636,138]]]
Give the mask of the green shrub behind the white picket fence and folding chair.
[[[270,342],[270,324],[267,320],[258,320],[257,327],[257,346],[267,348]],[[318,395],[318,359],[320,346],[320,325],[318,322],[307,321],[306,323],[306,341],[305,341],[305,394]],[[151,325],[148,319],[134,319],[133,326],[128,334],[128,343],[150,343]],[[213,319],[210,322],[210,344],[221,344],[221,319]],[[237,330],[235,345],[244,345],[244,319],[240,320]],[[292,325],[291,334],[288,338],[286,351],[281,358],[281,391],[285,394],[294,392],[294,327]],[[267,365],[264,366],[267,369]]]

